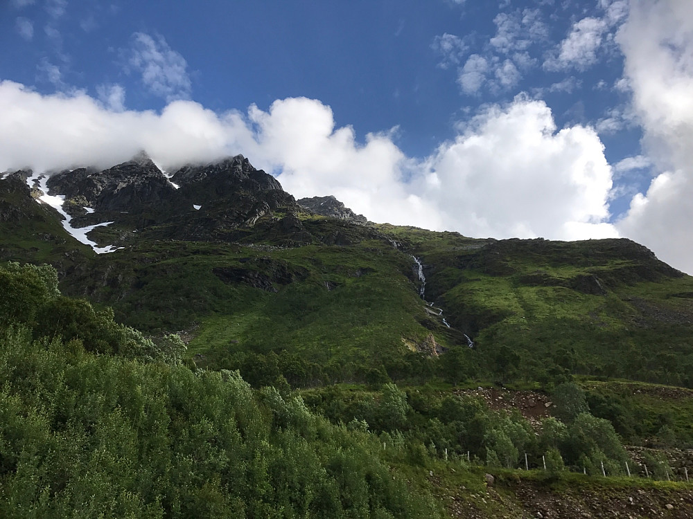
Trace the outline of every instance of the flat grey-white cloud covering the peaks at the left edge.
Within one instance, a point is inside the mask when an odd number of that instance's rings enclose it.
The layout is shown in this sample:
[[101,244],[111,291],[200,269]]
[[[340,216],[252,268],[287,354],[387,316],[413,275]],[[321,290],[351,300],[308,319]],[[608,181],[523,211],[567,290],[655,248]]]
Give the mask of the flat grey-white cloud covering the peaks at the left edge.
[[222,119],[193,102],[114,113],[82,92],[41,95],[10,81],[0,83],[0,112],[0,170],[107,167],[143,148],[165,165],[204,161],[231,151],[225,131],[240,135],[231,114]]

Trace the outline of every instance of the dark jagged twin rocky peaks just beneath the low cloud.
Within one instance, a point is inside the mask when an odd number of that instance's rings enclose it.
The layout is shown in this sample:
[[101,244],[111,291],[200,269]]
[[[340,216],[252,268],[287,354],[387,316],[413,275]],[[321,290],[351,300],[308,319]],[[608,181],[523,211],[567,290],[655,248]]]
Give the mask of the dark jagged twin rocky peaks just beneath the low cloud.
[[[285,215],[299,210],[273,176],[256,170],[242,155],[206,165],[184,165],[169,179],[141,153],[103,171],[82,167],[54,174],[47,185],[51,194],[65,195],[65,206],[83,225],[97,218],[137,228],[156,224],[161,237],[233,241],[243,233],[231,231],[272,220],[277,210]],[[87,215],[84,207],[96,215]],[[299,237],[297,242],[312,239],[298,219],[292,220],[291,231]]]

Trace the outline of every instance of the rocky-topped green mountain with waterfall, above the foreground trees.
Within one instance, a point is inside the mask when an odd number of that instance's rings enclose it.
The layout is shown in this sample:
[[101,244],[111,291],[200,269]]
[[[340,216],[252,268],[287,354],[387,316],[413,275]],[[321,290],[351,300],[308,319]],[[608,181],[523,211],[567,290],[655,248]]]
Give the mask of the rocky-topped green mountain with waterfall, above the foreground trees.
[[[139,154],[103,171],[4,176],[1,258],[50,262],[65,293],[109,304],[140,329],[194,328],[191,348],[209,365],[279,347],[335,363],[337,379],[406,379],[396,366],[407,352],[471,344],[473,371],[500,379],[515,376],[494,360],[511,349],[514,371],[534,378],[693,384],[692,278],[627,239],[473,239],[371,224],[335,197],[295,201],[240,155],[166,174]],[[94,248],[119,250],[92,255],[70,239],[35,203],[41,185],[64,197],[70,232],[100,225]],[[660,372],[651,359],[672,347],[679,362]]]

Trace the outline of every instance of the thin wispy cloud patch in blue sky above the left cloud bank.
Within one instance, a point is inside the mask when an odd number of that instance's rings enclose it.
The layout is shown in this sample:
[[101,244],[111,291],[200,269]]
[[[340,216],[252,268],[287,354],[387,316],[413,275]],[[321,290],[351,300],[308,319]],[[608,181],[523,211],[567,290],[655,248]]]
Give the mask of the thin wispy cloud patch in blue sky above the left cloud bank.
[[135,33],[133,40],[128,63],[141,73],[151,93],[169,102],[189,98],[191,81],[184,57],[170,48],[164,37]]

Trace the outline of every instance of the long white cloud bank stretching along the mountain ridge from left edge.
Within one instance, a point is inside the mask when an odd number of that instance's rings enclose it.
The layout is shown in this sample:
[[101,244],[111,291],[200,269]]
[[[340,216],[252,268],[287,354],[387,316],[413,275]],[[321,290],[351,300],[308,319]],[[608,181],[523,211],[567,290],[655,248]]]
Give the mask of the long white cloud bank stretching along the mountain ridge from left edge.
[[[119,97],[114,86],[103,94]],[[471,236],[616,234],[606,223],[611,167],[595,131],[558,130],[544,102],[523,97],[489,107],[423,160],[405,156],[390,132],[360,142],[306,98],[247,113],[186,100],[161,113],[114,111],[85,93],[41,95],[6,81],[0,112],[0,171],[107,167],[139,149],[166,169],[243,153],[296,197],[334,194],[374,221]]]

